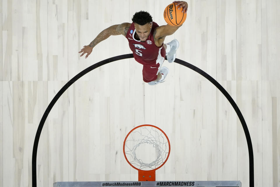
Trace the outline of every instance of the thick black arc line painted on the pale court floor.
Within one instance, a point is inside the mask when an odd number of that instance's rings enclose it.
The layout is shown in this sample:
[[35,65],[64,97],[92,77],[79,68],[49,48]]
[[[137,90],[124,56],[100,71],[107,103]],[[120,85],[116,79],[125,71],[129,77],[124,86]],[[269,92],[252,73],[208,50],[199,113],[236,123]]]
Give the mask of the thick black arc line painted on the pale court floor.
[[[69,80],[69,82],[67,82],[61,89],[60,91],[57,92],[57,94],[55,95],[55,97],[53,98],[53,100],[50,102],[50,104],[48,105],[46,111],[43,114],[43,117],[41,118],[40,124],[38,126],[36,135],[35,135],[35,140],[34,140],[34,145],[33,145],[33,152],[32,152],[32,186],[33,187],[37,187],[37,179],[36,179],[36,158],[37,158],[37,150],[38,150],[38,143],[39,143],[39,139],[40,139],[40,135],[44,126],[44,123],[50,113],[50,110],[53,108],[53,106],[55,105],[55,103],[57,102],[57,100],[60,98],[60,96],[64,93],[64,91],[66,91],[76,80],[78,80],[79,78],[81,78],[83,75],[87,74],[88,72],[90,72],[91,70],[94,70],[97,67],[100,67],[101,65],[110,63],[110,62],[114,62],[116,60],[122,60],[122,59],[127,59],[127,58],[133,58],[133,54],[125,54],[125,55],[120,55],[120,56],[115,56],[112,58],[108,58],[106,60],[102,60],[94,65],[91,65],[90,67],[84,69],[83,71],[81,71],[80,73],[78,73],[75,77],[73,77],[71,80]],[[167,60],[165,58],[165,60]],[[249,176],[250,176],[250,187],[254,187],[254,158],[253,158],[253,146],[252,146],[252,141],[251,141],[251,137],[250,137],[250,133],[248,130],[248,127],[246,125],[246,122],[244,120],[243,115],[241,114],[241,111],[239,110],[237,104],[234,102],[234,100],[232,99],[232,97],[230,96],[229,93],[227,93],[227,91],[223,88],[223,86],[221,86],[215,79],[213,79],[213,77],[211,77],[210,75],[208,75],[206,72],[204,72],[203,70],[199,69],[198,67],[187,63],[183,60],[180,60],[178,58],[175,59],[176,63],[181,64],[185,67],[188,67],[192,70],[194,70],[195,72],[199,73],[200,75],[202,75],[203,77],[205,77],[206,79],[208,79],[211,83],[213,83],[223,94],[224,96],[227,98],[227,100],[230,102],[230,104],[232,105],[232,107],[234,108],[245,133],[246,136],[246,140],[247,140],[247,145],[248,145],[248,152],[249,152]]]

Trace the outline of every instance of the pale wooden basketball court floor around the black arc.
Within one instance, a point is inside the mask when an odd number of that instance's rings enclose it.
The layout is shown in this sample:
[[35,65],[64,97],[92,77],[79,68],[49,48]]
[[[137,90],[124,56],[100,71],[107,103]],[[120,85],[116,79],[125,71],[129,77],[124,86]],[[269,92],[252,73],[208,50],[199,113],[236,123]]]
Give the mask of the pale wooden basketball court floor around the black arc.
[[[187,19],[165,43],[202,69],[237,103],[249,129],[256,187],[280,187],[280,1],[189,0]],[[32,186],[38,124],[71,78],[101,60],[132,53],[122,35],[79,57],[105,28],[148,11],[166,24],[167,0],[0,0],[0,187]],[[37,153],[37,186],[57,181],[137,181],[122,153],[127,133],[160,127],[171,153],[156,180],[240,180],[249,186],[248,147],[236,112],[207,79],[164,62],[164,83],[142,80],[133,58],[103,65],[58,99]],[[145,154],[143,154],[145,155]]]

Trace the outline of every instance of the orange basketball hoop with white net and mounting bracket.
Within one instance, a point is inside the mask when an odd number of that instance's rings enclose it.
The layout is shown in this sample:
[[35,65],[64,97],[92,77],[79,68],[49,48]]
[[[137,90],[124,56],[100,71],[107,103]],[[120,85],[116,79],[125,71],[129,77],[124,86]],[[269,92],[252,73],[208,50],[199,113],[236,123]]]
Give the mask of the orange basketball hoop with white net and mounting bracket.
[[125,137],[123,154],[129,165],[138,170],[138,181],[155,181],[155,170],[162,167],[169,157],[170,142],[160,128],[140,125]]

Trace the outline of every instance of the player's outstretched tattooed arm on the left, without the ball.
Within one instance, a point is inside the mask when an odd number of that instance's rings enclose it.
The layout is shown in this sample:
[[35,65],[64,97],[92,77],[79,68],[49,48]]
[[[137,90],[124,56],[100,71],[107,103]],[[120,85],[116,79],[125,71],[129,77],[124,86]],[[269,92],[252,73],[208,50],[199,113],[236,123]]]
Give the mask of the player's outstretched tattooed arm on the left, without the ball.
[[111,27],[108,27],[107,29],[100,32],[97,35],[97,37],[92,42],[90,42],[90,44],[88,46],[84,46],[83,49],[81,49],[81,51],[79,51],[79,53],[82,53],[81,56],[83,56],[85,53],[87,53],[85,58],[88,58],[88,56],[92,52],[92,48],[94,48],[100,41],[107,39],[111,35],[122,34],[122,35],[126,36],[126,33],[129,29],[130,25],[131,25],[131,23],[122,23],[120,25],[112,25]]

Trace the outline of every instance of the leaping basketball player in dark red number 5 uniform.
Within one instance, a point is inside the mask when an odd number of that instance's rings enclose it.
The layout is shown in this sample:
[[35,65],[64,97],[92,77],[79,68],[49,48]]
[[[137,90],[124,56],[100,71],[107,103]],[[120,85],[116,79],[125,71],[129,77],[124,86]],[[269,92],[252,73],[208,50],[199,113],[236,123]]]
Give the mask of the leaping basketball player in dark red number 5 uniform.
[[[185,1],[174,1],[178,3],[176,8],[186,13],[188,4]],[[107,39],[111,35],[122,34],[128,40],[129,47],[133,52],[134,59],[143,65],[143,81],[149,85],[164,82],[169,70],[162,67],[162,63],[167,56],[169,63],[174,62],[176,58],[176,50],[179,42],[174,39],[164,44],[166,36],[172,35],[180,26],[162,25],[159,26],[153,22],[148,12],[140,11],[133,15],[132,23],[122,23],[113,25],[103,30],[88,45],[84,46],[79,53],[83,56],[85,53],[87,58],[100,41]]]

